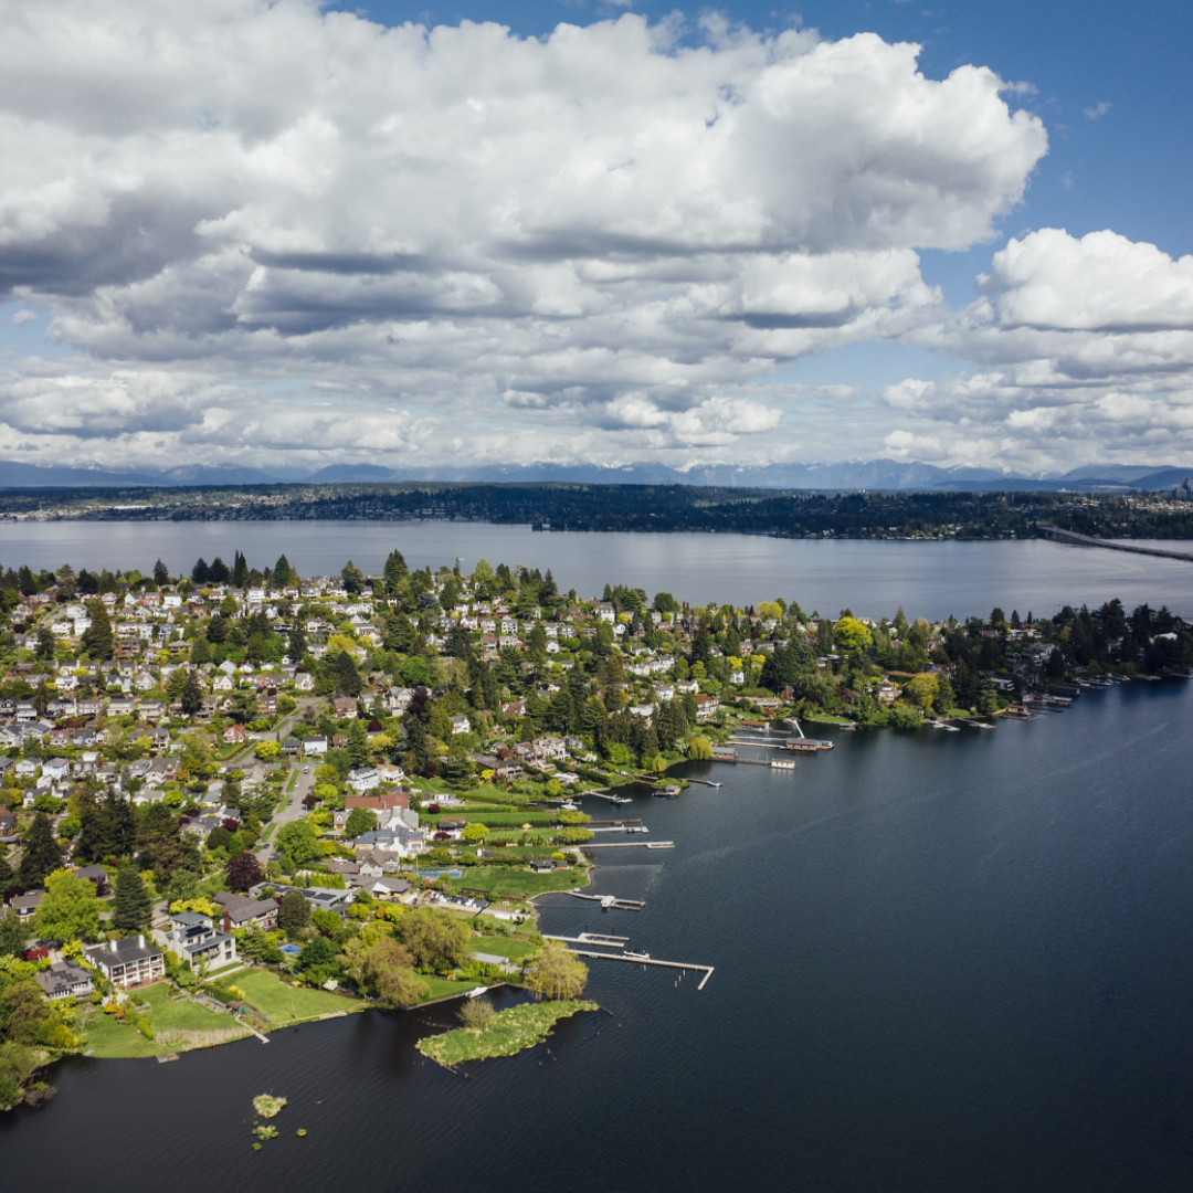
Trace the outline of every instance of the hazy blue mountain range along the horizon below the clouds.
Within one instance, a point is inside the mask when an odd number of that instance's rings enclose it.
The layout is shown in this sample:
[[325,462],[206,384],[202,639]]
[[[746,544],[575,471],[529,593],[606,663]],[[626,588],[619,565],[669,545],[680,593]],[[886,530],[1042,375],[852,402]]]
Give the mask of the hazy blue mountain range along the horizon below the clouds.
[[236,464],[191,464],[163,471],[117,471],[93,466],[38,466],[0,460],[0,488],[66,489],[128,488],[134,486],[242,484],[385,484],[402,481],[540,484],[698,484],[759,489],[884,489],[997,493],[1019,492],[1161,492],[1193,475],[1193,466],[1170,464],[1087,464],[1062,476],[1022,476],[993,468],[894,459],[843,460],[822,464],[707,464],[687,470],[665,464],[484,464],[477,468],[400,468],[378,464],[329,464],[314,472],[298,469],[270,471]]

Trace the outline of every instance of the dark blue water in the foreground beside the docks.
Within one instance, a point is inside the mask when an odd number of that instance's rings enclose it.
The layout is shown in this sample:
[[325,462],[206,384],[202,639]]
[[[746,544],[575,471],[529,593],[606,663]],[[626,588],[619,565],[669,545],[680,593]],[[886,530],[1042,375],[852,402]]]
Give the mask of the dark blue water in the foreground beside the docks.
[[[1191,715],[1189,686],[1138,685],[994,733],[842,734],[793,777],[710,766],[719,790],[636,802],[674,851],[600,871],[644,911],[543,916],[715,965],[703,991],[594,962],[611,1014],[466,1078],[414,1051],[444,1007],[72,1061],[0,1121],[5,1185],[1188,1189]],[[266,1090],[290,1106],[254,1154]]]

